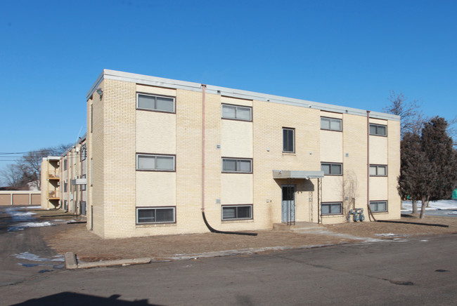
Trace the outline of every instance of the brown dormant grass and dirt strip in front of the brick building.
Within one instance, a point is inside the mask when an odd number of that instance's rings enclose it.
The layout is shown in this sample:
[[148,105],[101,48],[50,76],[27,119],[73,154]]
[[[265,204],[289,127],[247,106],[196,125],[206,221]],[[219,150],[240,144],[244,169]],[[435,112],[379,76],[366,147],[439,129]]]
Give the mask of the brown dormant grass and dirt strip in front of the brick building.
[[[62,211],[34,211],[39,221],[77,220],[71,214]],[[81,220],[77,220],[81,221]],[[376,239],[394,239],[430,234],[457,234],[457,218],[453,217],[403,217],[401,221],[425,222],[449,225],[436,227],[385,222],[357,222],[339,225],[321,225],[321,230],[328,234],[311,234],[296,232],[257,231],[257,236],[233,234],[181,234],[128,239],[101,239],[86,230],[86,224],[59,224],[52,227],[41,227],[40,231],[46,243],[58,253],[74,252],[82,261],[113,260],[122,258],[149,257],[154,260],[166,260],[182,255],[198,255],[217,251],[233,251],[262,248],[299,248],[323,244],[342,244],[359,241],[356,237]],[[344,234],[335,236],[332,233]],[[380,235],[380,234],[385,234]]]

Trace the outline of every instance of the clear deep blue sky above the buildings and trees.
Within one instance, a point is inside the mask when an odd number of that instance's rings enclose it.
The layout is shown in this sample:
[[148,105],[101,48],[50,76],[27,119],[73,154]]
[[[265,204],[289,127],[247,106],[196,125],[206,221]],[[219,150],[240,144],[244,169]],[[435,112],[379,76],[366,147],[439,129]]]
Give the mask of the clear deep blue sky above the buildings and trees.
[[0,0],[0,152],[75,142],[104,68],[453,119],[457,1]]

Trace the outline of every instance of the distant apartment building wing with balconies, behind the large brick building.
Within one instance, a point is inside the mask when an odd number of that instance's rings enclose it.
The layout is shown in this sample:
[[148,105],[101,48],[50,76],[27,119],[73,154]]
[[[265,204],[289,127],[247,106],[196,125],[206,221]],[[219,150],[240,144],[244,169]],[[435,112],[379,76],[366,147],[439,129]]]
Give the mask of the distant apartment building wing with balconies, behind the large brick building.
[[86,136],[60,157],[41,161],[41,208],[86,215]]

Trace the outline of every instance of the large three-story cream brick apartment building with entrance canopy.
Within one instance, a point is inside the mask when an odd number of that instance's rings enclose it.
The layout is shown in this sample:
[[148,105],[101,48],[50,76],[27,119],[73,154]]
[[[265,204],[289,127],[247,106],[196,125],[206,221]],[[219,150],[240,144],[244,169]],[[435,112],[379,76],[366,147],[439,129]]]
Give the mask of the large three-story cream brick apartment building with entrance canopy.
[[100,237],[400,218],[397,116],[108,69],[86,98]]

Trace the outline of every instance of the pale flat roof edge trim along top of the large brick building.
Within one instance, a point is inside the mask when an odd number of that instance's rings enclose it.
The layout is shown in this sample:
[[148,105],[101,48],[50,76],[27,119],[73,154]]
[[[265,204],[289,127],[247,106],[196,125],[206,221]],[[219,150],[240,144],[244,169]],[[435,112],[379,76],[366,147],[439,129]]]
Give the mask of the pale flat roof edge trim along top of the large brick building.
[[[136,84],[144,84],[150,86],[158,86],[173,89],[186,89],[188,91],[202,91],[202,84],[189,81],[178,81],[174,79],[164,79],[157,76],[146,76],[143,74],[134,74],[130,72],[120,72],[116,70],[103,69],[101,74],[96,79],[95,83],[89,89],[86,100],[89,100],[96,91],[96,88],[101,84],[103,79],[113,79],[118,81],[129,81]],[[240,89],[226,88],[220,86],[206,86],[207,93],[214,93],[217,95],[224,95],[227,97],[240,98],[246,100],[257,100],[271,103],[278,103],[284,105],[292,105],[297,107],[307,107],[323,110],[326,112],[336,112],[340,114],[354,114],[366,117],[366,109],[356,109],[352,107],[343,107],[338,105],[331,105],[321,102],[312,102],[308,100],[300,100],[295,98],[286,98],[279,95],[269,95],[266,93],[255,93],[253,91],[243,91]],[[370,118],[385,119],[400,121],[400,117],[394,114],[387,114],[383,112],[370,112]]]

